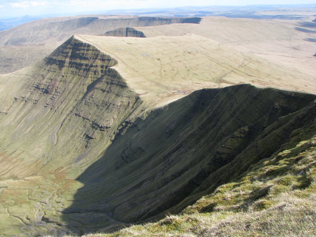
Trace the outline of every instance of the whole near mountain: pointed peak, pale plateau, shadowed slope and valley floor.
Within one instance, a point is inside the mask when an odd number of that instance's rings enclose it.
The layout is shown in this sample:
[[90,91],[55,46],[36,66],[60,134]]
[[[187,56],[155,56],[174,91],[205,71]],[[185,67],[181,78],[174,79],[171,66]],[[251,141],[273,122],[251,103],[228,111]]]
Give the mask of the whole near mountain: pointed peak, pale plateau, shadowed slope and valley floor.
[[159,220],[309,139],[316,95],[242,83],[293,89],[290,75],[304,79],[270,65],[197,35],[76,35],[1,75],[1,233],[85,234]]

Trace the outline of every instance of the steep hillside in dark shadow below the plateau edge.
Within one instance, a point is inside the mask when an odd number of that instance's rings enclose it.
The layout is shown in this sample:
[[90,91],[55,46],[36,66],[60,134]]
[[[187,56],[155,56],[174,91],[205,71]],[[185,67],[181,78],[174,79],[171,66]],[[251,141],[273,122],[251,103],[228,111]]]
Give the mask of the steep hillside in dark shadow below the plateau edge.
[[126,132],[118,130],[112,145],[78,177],[84,186],[65,209],[64,222],[83,234],[179,212],[210,187],[276,152],[291,132],[260,141],[282,127],[281,117],[294,118],[315,98],[236,85],[195,91],[156,109]]

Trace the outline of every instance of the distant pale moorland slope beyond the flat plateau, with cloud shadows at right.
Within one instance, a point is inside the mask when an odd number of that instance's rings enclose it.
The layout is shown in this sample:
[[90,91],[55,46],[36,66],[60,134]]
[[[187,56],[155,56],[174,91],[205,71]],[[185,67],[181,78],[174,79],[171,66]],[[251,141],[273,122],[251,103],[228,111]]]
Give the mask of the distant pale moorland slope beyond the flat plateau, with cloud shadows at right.
[[[147,37],[197,34],[244,53],[251,53],[276,64],[308,74],[315,82],[315,23],[311,21],[257,20],[226,17],[203,17],[195,27],[178,24],[136,27]],[[308,66],[307,66],[308,65]]]

